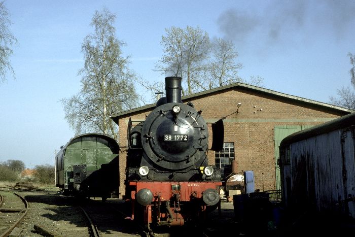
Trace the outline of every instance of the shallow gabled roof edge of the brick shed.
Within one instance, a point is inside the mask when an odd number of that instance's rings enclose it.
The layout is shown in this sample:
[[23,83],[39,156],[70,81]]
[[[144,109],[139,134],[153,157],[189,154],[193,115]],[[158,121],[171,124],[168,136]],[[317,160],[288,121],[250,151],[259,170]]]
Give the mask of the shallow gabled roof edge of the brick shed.
[[[204,96],[204,95],[208,95],[208,94],[212,94],[212,93],[216,93],[216,92],[222,92],[224,90],[229,90],[229,89],[243,89],[243,90],[254,91],[257,93],[267,94],[267,95],[271,95],[271,96],[275,96],[275,97],[279,97],[279,98],[287,98],[287,99],[300,101],[300,102],[307,103],[307,104],[312,104],[317,107],[324,107],[325,109],[338,110],[338,111],[342,111],[345,113],[355,112],[354,110],[346,109],[343,107],[339,107],[339,106],[335,106],[335,105],[331,105],[331,104],[327,104],[327,103],[323,103],[323,102],[319,102],[319,101],[315,101],[315,100],[311,100],[311,99],[306,99],[306,98],[298,97],[295,95],[284,94],[284,93],[277,92],[274,90],[269,90],[269,89],[265,89],[262,87],[248,85],[248,84],[244,84],[244,83],[240,83],[240,82],[233,83],[233,84],[226,85],[226,86],[217,87],[215,89],[205,90],[205,91],[194,93],[191,95],[186,95],[186,96],[183,96],[181,99],[185,102],[185,101],[192,100],[193,98],[196,98],[199,96]],[[151,111],[154,107],[155,107],[155,104],[138,107],[138,108],[135,108],[132,110],[127,110],[127,111],[124,111],[121,113],[113,114],[111,116],[111,118],[118,124],[118,120],[121,117],[127,117],[130,114],[143,113],[144,111]]]

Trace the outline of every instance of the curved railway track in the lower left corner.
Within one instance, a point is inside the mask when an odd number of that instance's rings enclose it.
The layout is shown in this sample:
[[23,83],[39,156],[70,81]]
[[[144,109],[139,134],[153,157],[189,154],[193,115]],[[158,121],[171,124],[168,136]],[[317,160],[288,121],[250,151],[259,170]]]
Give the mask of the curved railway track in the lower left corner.
[[28,210],[27,201],[17,193],[0,191],[0,237],[8,236]]

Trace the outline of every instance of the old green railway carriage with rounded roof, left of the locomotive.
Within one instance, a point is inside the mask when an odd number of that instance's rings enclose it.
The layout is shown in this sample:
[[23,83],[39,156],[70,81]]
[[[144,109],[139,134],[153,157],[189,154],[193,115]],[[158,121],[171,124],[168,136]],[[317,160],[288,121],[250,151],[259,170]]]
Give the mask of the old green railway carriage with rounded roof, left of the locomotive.
[[119,144],[101,133],[84,133],[60,147],[55,157],[55,182],[64,194],[117,196]]

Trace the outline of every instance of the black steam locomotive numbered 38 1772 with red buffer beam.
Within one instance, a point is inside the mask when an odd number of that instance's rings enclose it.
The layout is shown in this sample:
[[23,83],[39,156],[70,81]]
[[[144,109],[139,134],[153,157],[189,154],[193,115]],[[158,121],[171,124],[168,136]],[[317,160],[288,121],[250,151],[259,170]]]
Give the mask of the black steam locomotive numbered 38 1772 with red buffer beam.
[[151,230],[203,222],[218,207],[220,169],[208,164],[207,151],[223,145],[223,121],[208,127],[189,101],[183,104],[182,78],[166,77],[166,97],[157,101],[145,121],[128,124],[126,194],[131,219]]

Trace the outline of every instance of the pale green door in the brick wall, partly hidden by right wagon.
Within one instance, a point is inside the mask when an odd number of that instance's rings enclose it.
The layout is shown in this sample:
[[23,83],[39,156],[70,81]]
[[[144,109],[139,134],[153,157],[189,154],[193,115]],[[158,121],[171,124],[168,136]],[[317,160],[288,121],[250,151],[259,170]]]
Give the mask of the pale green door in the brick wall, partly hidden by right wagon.
[[280,156],[278,147],[282,139],[286,138],[290,134],[310,128],[312,125],[277,125],[274,126],[274,141],[275,141],[275,177],[276,177],[276,190],[281,189],[281,180],[280,180],[280,167],[278,166],[278,158]]

